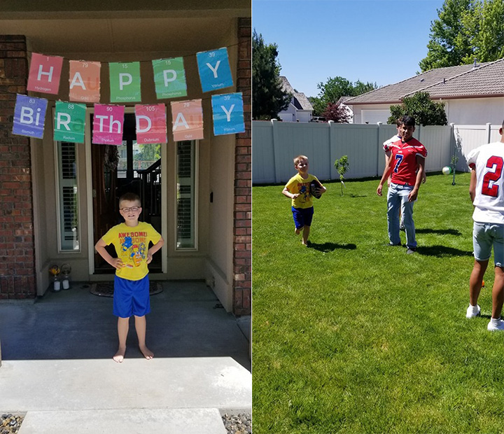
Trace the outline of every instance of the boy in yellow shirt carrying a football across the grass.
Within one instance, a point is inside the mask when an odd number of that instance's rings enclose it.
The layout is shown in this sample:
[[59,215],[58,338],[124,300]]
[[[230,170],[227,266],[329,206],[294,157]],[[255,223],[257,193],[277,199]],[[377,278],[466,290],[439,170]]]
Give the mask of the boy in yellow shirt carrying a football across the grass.
[[[308,157],[297,155],[294,158],[294,167],[297,175],[288,180],[283,188],[282,194],[292,199],[292,212],[295,224],[295,234],[300,235],[301,230],[302,244],[308,245],[309,231],[311,228],[311,219],[314,214],[313,202],[311,200],[310,183],[313,180],[318,181],[316,176],[308,173]],[[320,181],[318,181],[320,183]],[[323,194],[326,188],[320,183],[318,193]]]

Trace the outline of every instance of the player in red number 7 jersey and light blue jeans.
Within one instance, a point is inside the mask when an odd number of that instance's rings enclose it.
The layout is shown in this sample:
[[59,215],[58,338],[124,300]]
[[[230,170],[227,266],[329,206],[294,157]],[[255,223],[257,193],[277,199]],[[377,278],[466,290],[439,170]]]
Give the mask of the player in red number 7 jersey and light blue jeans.
[[391,151],[391,158],[377,188],[377,195],[381,196],[384,183],[392,173],[387,194],[388,239],[391,246],[400,246],[399,211],[402,211],[408,254],[416,251],[413,204],[418,197],[427,156],[425,146],[414,139],[414,130],[414,118],[404,116],[400,126],[401,139],[384,146],[384,151]]

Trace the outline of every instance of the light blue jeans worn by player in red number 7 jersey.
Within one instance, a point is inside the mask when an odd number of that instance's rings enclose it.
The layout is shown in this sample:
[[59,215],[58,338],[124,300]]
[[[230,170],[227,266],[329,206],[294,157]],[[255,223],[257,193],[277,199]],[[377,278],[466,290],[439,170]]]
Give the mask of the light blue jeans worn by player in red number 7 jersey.
[[413,190],[413,186],[400,186],[391,183],[387,193],[387,226],[388,239],[391,244],[399,244],[399,211],[402,211],[402,218],[406,232],[406,246],[416,248],[413,221],[413,203],[408,202],[408,195]]

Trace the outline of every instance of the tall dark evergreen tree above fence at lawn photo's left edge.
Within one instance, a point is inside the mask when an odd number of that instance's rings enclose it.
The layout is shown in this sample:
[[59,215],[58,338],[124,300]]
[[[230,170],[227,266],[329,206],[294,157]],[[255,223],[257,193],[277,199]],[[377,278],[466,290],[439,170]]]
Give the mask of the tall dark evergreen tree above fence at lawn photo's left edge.
[[292,95],[283,92],[275,43],[265,44],[261,34],[252,37],[252,118],[272,119],[287,109]]

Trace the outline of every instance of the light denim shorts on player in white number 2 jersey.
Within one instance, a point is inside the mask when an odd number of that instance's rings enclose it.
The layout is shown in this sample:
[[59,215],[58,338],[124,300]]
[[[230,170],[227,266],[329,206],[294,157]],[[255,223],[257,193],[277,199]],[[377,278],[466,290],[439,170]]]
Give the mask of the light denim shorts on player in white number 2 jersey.
[[472,225],[472,248],[475,260],[489,260],[493,246],[493,262],[496,267],[504,267],[504,225],[479,223]]

